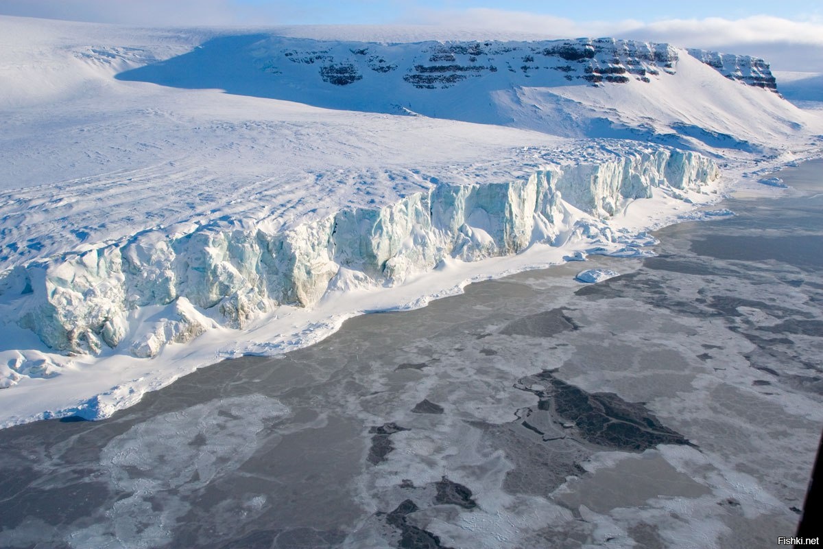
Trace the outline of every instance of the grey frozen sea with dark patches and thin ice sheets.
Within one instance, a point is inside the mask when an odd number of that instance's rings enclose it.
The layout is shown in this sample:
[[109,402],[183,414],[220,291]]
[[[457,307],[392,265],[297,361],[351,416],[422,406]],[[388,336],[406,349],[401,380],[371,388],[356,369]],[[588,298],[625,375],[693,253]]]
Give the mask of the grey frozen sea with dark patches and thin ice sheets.
[[0,430],[0,547],[774,547],[823,425],[823,161],[779,177],[654,258]]

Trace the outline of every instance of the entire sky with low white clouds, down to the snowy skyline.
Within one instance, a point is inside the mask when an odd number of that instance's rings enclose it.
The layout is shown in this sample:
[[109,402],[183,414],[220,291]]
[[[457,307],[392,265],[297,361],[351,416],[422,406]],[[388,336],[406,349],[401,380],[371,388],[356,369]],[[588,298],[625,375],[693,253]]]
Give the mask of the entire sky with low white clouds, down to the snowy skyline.
[[422,24],[615,36],[823,72],[823,2],[813,0],[0,0],[0,14],[151,26]]

